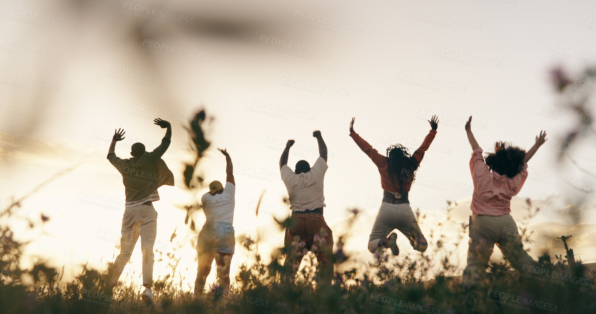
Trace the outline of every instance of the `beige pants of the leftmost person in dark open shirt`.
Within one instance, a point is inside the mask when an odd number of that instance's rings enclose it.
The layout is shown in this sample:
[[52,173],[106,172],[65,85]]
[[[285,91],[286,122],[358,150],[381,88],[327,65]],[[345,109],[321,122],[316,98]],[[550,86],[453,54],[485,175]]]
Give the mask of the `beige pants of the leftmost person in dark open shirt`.
[[153,206],[138,205],[126,207],[122,217],[122,238],[120,239],[120,254],[116,257],[110,269],[108,287],[115,287],[126,263],[131,259],[136,240],[141,237],[141,252],[143,254],[143,285],[153,285],[153,244],[157,234],[157,212]]

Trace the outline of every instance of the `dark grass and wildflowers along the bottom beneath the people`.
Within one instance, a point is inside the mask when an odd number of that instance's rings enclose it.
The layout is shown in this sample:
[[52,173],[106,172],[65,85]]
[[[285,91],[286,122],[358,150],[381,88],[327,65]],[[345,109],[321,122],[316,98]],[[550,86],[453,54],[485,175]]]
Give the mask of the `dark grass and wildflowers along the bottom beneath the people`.
[[[458,279],[448,276],[457,271],[450,265],[449,256],[440,261],[436,278],[427,280],[421,275],[434,266],[429,256],[439,254],[437,241],[429,245],[434,251],[421,256],[396,258],[390,253],[379,254],[364,268],[343,266],[348,263],[347,256],[338,250],[334,254],[333,284],[318,285],[316,263],[307,265],[295,277],[288,276],[290,270],[280,266],[281,256],[273,256],[269,264],[263,263],[256,251],[256,240],[246,237],[238,241],[254,259],[240,266],[236,284],[228,296],[222,296],[214,285],[203,295],[194,297],[190,290],[175,284],[173,278],[178,271],[175,263],[170,263],[171,275],[155,284],[157,304],[153,306],[144,303],[138,289],[132,286],[116,288],[110,299],[101,293],[107,272],[86,266],[80,276],[67,283],[61,282],[60,271],[43,264],[20,269],[18,260],[26,244],[15,241],[8,226],[1,231],[2,313],[596,312],[592,274],[581,263],[570,269],[561,256],[542,256],[538,273],[527,269],[512,271],[507,263],[492,263],[485,281],[464,287]],[[174,256],[170,255],[170,259]],[[367,272],[363,273],[362,269]],[[553,278],[553,273],[558,275]]]

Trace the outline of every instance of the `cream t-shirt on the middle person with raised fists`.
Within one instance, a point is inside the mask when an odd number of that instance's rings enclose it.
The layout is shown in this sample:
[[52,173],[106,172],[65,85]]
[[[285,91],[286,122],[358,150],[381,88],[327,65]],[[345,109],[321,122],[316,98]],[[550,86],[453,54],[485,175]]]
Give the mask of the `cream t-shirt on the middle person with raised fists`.
[[281,179],[290,195],[292,212],[315,210],[325,206],[323,196],[323,178],[327,172],[327,162],[319,157],[311,167],[311,171],[296,173],[287,164],[281,167]]

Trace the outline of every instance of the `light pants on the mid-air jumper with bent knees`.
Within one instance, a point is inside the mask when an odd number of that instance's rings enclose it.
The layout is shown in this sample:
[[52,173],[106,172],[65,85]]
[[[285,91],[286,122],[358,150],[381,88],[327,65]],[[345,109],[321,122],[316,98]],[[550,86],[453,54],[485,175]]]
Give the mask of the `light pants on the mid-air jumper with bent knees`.
[[[412,212],[409,203],[391,204],[383,202],[374,220],[373,230],[368,237],[368,251],[377,253],[378,243],[389,235],[393,229],[398,229],[408,239],[416,240],[416,243],[426,243],[426,238],[418,226],[416,216]],[[418,247],[414,247],[418,250]]]

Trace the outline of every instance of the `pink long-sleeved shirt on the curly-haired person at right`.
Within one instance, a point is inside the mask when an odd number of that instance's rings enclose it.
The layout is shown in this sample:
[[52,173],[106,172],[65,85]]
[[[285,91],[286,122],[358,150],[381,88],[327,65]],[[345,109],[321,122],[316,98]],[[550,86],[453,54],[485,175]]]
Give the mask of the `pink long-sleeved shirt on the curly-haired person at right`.
[[482,157],[482,148],[476,148],[470,159],[474,181],[471,210],[476,214],[501,216],[511,212],[511,197],[517,195],[527,178],[527,164],[513,178],[491,172]]

